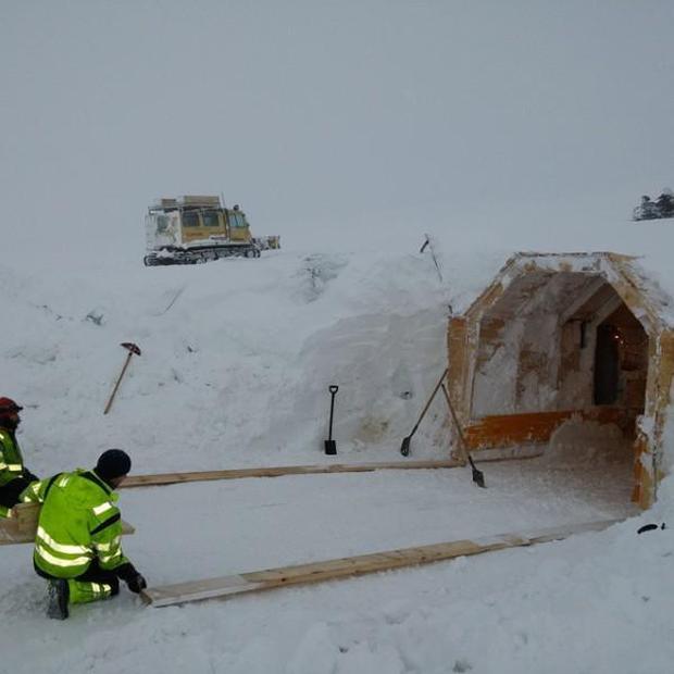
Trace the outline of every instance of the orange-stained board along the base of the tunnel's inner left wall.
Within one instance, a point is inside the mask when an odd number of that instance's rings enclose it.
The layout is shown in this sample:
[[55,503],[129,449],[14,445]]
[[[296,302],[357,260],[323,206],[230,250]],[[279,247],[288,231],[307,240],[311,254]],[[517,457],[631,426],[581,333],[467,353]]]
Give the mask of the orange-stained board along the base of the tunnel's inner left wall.
[[499,414],[485,416],[470,424],[465,428],[465,440],[469,449],[507,447],[521,442],[547,442],[552,432],[572,416],[601,424],[617,424],[623,432],[629,425],[629,417],[625,410],[609,407]]

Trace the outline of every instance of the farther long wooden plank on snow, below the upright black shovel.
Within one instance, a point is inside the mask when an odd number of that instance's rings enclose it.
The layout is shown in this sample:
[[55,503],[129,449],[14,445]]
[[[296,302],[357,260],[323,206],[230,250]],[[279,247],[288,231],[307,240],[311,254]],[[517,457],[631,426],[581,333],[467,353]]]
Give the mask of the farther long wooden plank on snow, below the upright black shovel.
[[460,461],[395,461],[391,463],[333,463],[325,465],[282,465],[272,467],[232,469],[226,471],[199,471],[191,473],[158,473],[153,475],[132,475],[120,489],[175,485],[186,482],[212,479],[241,479],[245,477],[282,477],[284,475],[315,475],[321,473],[370,473],[373,471],[408,471],[414,469],[454,469],[463,465]]

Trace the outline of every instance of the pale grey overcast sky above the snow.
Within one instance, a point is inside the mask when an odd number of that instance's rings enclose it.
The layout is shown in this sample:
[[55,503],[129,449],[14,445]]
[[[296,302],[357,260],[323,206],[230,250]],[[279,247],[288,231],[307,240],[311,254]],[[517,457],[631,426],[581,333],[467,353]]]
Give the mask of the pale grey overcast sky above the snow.
[[0,0],[3,248],[140,260],[183,194],[290,246],[625,220],[673,82],[671,0]]

